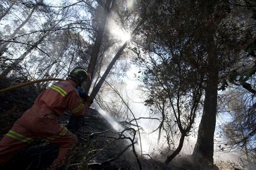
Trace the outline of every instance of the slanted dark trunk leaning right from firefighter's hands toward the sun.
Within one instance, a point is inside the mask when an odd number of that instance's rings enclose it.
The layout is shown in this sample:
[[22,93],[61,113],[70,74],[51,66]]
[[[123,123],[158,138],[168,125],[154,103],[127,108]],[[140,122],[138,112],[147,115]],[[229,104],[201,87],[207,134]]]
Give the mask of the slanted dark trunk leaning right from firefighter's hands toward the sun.
[[113,68],[114,64],[116,63],[117,59],[121,56],[122,51],[124,51],[124,48],[127,46],[127,41],[124,43],[124,45],[121,46],[121,48],[117,51],[116,56],[112,59],[112,61],[109,63],[108,68],[105,70],[104,74],[101,76],[100,81],[96,84],[95,88],[93,88],[92,93],[90,95],[90,98],[92,100],[95,99],[95,96],[99,92],[101,85],[103,85],[106,77],[108,76],[110,70]]

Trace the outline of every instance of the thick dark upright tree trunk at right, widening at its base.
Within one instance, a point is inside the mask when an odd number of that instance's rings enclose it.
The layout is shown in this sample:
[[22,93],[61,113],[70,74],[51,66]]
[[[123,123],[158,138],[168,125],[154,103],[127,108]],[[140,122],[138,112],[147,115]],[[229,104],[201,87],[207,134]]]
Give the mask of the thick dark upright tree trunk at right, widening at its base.
[[202,163],[213,165],[213,138],[216,124],[218,95],[218,56],[213,34],[208,49],[208,80],[205,88],[203,115],[198,129],[197,143],[193,156]]

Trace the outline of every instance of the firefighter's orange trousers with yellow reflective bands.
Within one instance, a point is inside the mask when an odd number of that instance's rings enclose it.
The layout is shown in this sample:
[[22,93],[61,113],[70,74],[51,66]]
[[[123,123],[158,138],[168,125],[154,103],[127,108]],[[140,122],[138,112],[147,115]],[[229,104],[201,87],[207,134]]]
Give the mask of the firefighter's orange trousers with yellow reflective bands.
[[27,147],[33,138],[45,138],[49,143],[58,145],[58,160],[66,159],[69,149],[77,142],[75,135],[59,125],[56,119],[38,118],[30,111],[23,114],[7,134],[0,141],[0,164]]

